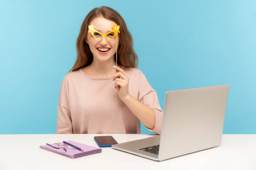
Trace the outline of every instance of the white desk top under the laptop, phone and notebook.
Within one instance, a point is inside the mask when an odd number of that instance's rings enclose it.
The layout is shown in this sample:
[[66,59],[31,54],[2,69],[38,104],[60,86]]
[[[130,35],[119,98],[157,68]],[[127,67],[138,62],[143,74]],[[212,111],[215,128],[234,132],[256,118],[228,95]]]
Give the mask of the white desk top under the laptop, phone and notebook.
[[219,147],[162,162],[112,148],[70,159],[40,149],[40,145],[74,140],[97,147],[93,137],[112,135],[118,143],[148,134],[0,135],[0,170],[256,170],[256,135],[223,135]]

